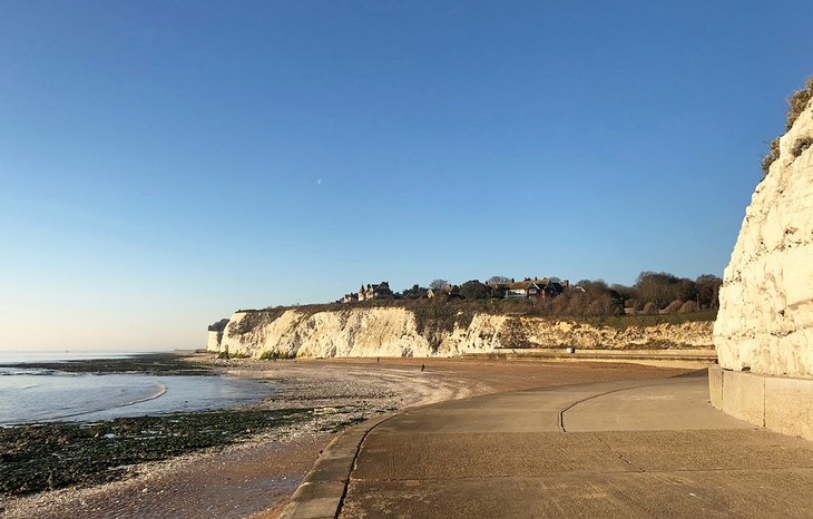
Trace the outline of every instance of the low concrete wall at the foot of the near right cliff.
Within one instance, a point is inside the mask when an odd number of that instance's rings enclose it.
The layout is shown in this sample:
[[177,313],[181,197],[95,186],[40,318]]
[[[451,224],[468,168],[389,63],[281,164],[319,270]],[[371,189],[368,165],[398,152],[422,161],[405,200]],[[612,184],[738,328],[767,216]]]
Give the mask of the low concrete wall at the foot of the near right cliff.
[[813,440],[813,379],[708,369],[712,405],[755,425]]

